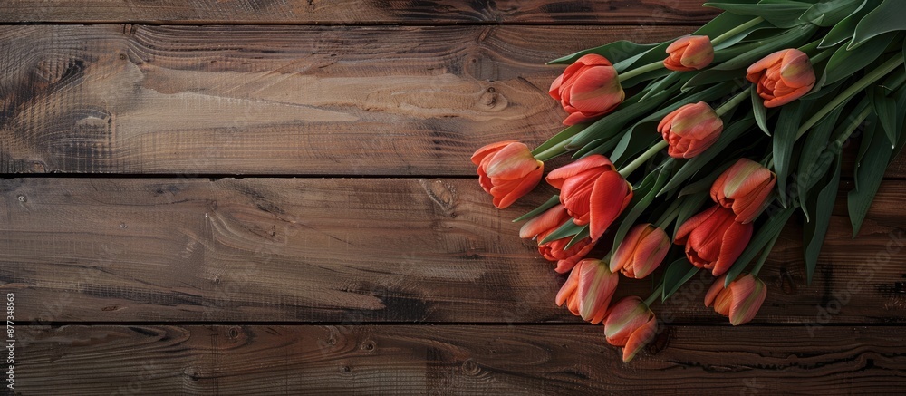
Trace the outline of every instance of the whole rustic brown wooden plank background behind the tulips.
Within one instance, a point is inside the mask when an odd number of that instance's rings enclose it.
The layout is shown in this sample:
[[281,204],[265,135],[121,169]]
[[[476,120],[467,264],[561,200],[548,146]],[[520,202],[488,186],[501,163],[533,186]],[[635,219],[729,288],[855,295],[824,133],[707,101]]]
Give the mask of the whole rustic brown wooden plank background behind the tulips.
[[516,237],[547,196],[478,187],[477,147],[559,130],[545,61],[688,34],[699,4],[3,1],[16,393],[901,391],[906,160],[858,239],[838,202],[813,285],[793,225],[753,324],[693,279],[630,364]]

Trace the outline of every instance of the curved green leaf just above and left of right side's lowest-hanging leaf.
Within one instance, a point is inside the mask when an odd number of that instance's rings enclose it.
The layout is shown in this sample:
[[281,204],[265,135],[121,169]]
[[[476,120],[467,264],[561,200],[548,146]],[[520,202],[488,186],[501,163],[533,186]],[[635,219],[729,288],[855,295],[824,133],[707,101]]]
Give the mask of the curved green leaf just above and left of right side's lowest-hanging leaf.
[[[861,102],[853,113],[863,111],[867,105],[867,101]],[[796,172],[795,185],[797,188],[796,197],[802,205],[806,221],[811,221],[811,216],[806,205],[805,195],[818,183],[818,180],[824,178],[827,169],[830,169],[831,164],[834,163],[836,153],[834,150],[828,150],[830,146],[829,139],[841,112],[843,112],[843,106],[827,114],[821,122],[805,135],[805,142],[799,156],[799,169]]]

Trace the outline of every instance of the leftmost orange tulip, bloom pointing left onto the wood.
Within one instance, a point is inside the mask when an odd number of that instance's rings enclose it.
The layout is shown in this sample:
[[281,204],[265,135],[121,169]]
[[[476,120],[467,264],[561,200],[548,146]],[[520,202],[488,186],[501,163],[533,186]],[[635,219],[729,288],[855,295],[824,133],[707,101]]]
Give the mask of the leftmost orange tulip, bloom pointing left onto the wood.
[[478,183],[494,197],[494,206],[506,208],[541,181],[545,163],[517,141],[491,143],[472,154],[478,166]]

